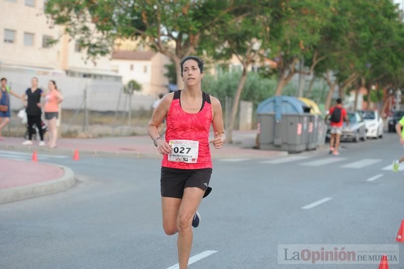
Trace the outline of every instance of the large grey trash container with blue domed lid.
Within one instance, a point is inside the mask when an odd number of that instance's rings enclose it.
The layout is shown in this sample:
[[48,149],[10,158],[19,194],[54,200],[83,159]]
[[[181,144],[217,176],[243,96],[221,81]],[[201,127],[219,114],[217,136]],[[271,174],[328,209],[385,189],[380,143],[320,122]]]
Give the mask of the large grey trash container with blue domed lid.
[[[309,143],[310,107],[291,96],[274,96],[261,102],[257,108],[261,149],[301,152]],[[314,128],[314,126],[313,126]]]

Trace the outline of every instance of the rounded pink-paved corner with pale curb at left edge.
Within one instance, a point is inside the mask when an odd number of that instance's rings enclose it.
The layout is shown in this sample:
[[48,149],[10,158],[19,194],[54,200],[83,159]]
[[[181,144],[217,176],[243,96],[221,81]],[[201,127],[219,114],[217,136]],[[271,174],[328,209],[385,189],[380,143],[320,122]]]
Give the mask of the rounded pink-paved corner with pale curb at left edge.
[[74,183],[67,167],[0,159],[0,203],[63,191]]

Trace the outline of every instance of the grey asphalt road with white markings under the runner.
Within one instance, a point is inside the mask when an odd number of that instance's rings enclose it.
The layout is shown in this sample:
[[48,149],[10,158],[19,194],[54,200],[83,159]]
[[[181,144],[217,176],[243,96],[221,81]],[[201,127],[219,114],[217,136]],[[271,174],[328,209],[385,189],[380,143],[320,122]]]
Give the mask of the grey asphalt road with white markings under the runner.
[[[391,244],[403,260],[389,268],[403,268],[404,244],[394,239],[404,219],[404,172],[390,169],[404,155],[397,140],[385,134],[343,143],[340,156],[316,150],[274,160],[214,160],[213,191],[194,229],[191,256],[200,260],[189,268],[378,267],[279,264],[281,244]],[[43,161],[72,168],[78,182],[65,192],[0,204],[0,268],[177,263],[176,236],[165,235],[161,224],[159,160],[81,156],[74,162],[49,155]]]

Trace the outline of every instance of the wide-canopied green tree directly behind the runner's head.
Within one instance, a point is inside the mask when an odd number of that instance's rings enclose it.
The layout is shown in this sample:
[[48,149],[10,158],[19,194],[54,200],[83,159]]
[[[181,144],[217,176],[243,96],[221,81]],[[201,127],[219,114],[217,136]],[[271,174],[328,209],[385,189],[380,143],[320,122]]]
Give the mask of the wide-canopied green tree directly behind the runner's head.
[[182,86],[180,60],[194,54],[206,35],[214,35],[212,29],[225,23],[229,12],[245,7],[239,1],[215,0],[49,0],[45,12],[90,57],[109,54],[117,38],[144,39],[171,58]]

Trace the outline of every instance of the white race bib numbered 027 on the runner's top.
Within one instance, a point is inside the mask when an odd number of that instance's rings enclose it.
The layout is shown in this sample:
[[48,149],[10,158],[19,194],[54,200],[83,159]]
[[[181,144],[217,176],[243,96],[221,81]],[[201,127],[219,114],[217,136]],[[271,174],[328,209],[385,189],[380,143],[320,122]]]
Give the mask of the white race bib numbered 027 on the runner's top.
[[168,154],[170,162],[183,162],[196,164],[198,159],[199,142],[192,140],[170,140],[169,145],[173,149]]

